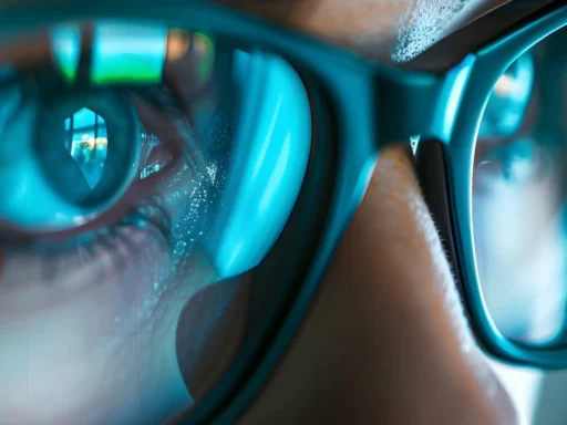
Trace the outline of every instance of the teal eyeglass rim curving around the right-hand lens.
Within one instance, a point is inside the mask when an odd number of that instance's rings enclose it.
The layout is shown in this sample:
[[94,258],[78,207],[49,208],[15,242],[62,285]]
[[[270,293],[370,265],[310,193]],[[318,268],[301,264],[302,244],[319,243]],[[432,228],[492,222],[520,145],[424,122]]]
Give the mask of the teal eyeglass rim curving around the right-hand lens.
[[491,318],[484,300],[474,252],[473,232],[473,160],[476,136],[486,104],[499,76],[523,53],[554,32],[567,27],[567,7],[559,8],[517,29],[478,51],[462,108],[455,121],[455,132],[444,145],[447,198],[452,216],[453,243],[456,258],[453,268],[461,288],[473,331],[481,345],[491,354],[514,364],[560,370],[567,367],[567,349],[529,346],[506,338]]

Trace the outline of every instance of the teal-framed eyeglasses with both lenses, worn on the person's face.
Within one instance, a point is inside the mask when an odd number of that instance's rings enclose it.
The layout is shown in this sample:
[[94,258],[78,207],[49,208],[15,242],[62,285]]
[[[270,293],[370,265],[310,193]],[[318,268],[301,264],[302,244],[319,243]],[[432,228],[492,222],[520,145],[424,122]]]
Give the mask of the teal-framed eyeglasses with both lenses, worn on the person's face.
[[[24,239],[37,256],[105,265],[91,274],[121,269],[130,289],[109,292],[100,318],[116,334],[151,333],[173,287],[208,291],[198,318],[214,310],[210,323],[239,325],[189,326],[220,332],[226,356],[195,360],[221,373],[195,379],[187,421],[230,422],[295,334],[380,151],[413,139],[480,343],[511,362],[567,367],[564,4],[512,2],[406,69],[208,2],[7,10],[9,250]],[[118,242],[130,251],[101,249]],[[154,252],[159,243],[173,260]]]

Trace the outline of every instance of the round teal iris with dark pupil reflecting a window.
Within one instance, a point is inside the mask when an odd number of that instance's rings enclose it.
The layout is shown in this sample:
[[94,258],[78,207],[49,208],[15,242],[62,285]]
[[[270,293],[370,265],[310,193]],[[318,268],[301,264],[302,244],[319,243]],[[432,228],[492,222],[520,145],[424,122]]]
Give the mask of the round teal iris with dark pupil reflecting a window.
[[86,90],[43,102],[37,141],[37,157],[59,196],[105,208],[132,182],[141,129],[125,93]]

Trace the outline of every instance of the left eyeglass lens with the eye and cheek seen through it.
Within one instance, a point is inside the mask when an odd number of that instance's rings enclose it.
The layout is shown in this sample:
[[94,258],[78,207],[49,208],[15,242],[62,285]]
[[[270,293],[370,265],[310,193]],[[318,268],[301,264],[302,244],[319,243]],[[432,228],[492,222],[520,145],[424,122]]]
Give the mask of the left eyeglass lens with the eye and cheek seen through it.
[[[282,287],[250,282],[299,199],[311,117],[287,59],[198,25],[85,20],[4,35],[0,363],[13,362],[1,357],[10,335],[43,344],[27,372],[38,398],[8,405],[50,401],[37,410],[50,423],[86,407],[92,423],[156,423],[196,403],[243,343],[219,330],[278,318]],[[254,320],[250,287],[269,301]],[[85,374],[92,391],[72,391]],[[155,402],[172,387],[178,405]],[[117,406],[133,397],[135,412]]]

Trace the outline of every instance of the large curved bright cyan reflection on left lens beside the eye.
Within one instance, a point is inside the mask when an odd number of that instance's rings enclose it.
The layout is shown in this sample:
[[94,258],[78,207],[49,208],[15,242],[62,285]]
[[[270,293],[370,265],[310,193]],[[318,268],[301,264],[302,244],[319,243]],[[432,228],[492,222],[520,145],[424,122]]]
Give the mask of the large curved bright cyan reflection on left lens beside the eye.
[[225,206],[207,243],[219,278],[256,267],[288,221],[311,149],[303,83],[282,58],[235,52],[239,121]]

